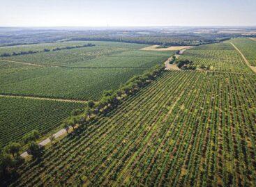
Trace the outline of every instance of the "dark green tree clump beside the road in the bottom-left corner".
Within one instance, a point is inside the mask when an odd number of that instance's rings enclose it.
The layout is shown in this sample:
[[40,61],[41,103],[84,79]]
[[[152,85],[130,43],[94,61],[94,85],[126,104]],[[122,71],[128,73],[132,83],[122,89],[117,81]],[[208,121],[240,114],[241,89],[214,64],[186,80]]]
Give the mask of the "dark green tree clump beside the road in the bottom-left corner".
[[20,156],[20,152],[25,145],[27,145],[28,154],[31,154],[33,158],[40,157],[43,153],[43,146],[35,142],[39,137],[38,131],[33,130],[27,133],[20,143],[9,143],[0,149],[0,179],[15,174],[17,168],[24,163],[24,158]]

